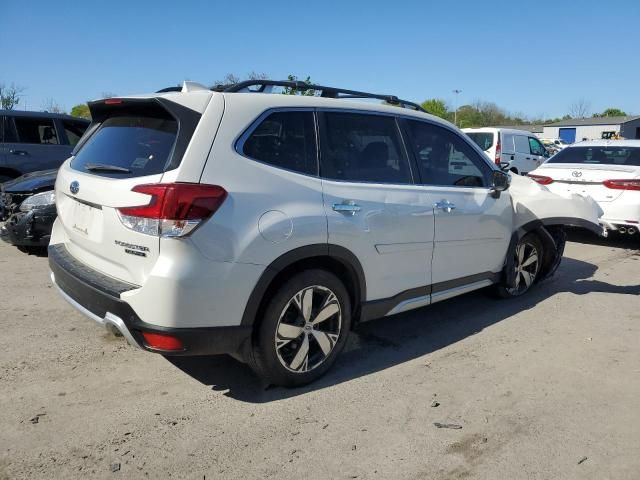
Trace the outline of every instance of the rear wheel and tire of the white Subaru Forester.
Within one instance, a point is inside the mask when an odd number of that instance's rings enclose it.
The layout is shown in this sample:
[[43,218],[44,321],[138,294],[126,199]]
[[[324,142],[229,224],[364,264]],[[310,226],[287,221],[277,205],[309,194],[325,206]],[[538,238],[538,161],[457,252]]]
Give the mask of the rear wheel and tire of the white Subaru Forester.
[[259,320],[249,365],[269,384],[297,387],[321,377],[344,348],[351,301],[335,275],[305,270],[278,288]]

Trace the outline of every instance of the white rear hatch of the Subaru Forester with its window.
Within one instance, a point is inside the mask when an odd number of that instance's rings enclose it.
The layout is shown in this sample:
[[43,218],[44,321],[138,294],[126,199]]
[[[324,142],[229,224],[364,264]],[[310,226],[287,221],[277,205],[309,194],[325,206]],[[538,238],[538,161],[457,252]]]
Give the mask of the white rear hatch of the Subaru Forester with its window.
[[162,97],[89,106],[92,127],[56,181],[65,246],[87,266],[142,285],[160,252],[158,220],[154,226],[151,219],[123,213],[157,200],[133,189],[158,184],[165,172],[180,167],[201,113]]

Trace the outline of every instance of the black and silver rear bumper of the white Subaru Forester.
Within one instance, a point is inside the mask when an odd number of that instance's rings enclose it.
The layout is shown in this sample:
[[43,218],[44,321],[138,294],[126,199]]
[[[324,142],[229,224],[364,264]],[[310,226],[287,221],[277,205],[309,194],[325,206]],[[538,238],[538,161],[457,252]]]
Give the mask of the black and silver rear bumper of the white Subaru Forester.
[[[62,244],[49,246],[51,280],[63,298],[85,316],[122,333],[132,345],[166,355],[216,355],[240,352],[251,338],[252,328],[197,327],[170,328],[143,322],[120,294],[136,285],[112,279],[89,269],[69,255]],[[143,332],[168,334],[178,338],[184,349],[161,351],[149,347]]]

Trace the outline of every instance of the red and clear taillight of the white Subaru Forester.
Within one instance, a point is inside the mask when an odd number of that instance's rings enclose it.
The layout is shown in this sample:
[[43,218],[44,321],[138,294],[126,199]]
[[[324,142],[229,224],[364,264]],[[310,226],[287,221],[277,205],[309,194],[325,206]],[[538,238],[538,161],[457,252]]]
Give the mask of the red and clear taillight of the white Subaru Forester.
[[200,183],[157,183],[138,185],[132,190],[150,198],[145,205],[118,208],[122,224],[160,237],[189,235],[227,198],[224,188]]

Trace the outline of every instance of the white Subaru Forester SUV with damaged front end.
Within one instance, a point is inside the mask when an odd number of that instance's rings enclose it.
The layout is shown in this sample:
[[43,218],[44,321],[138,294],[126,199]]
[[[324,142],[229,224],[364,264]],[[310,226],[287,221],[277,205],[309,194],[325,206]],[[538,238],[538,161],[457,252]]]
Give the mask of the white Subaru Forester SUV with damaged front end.
[[601,232],[590,199],[511,178],[392,96],[185,82],[89,107],[57,177],[52,281],[135,346],[232,354],[273,384],[322,375],[359,322],[521,295],[564,225]]

